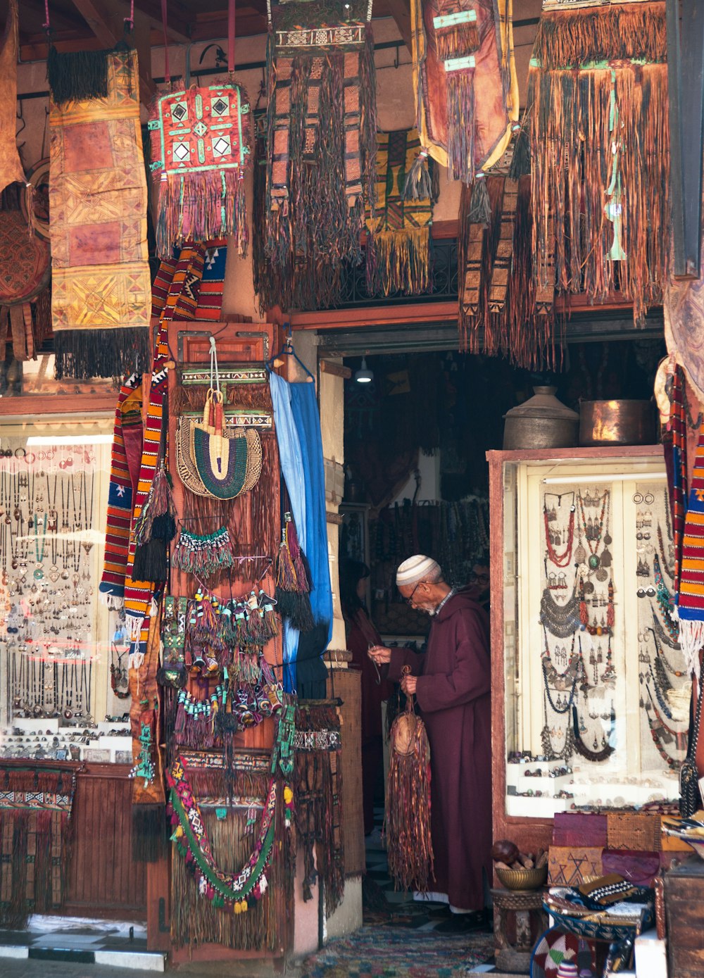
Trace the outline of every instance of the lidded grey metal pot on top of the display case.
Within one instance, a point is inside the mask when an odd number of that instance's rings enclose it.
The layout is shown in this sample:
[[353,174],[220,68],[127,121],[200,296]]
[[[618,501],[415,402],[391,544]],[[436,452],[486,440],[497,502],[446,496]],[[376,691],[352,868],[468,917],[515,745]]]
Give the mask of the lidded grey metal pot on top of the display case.
[[573,448],[580,416],[554,396],[556,387],[534,387],[535,396],[504,415],[504,448]]

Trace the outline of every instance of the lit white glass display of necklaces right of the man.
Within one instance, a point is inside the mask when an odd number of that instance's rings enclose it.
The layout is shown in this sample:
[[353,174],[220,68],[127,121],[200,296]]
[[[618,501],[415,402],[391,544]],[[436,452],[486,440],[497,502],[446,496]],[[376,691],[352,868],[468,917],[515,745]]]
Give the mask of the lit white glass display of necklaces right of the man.
[[509,817],[679,797],[691,687],[662,450],[582,451],[494,453]]

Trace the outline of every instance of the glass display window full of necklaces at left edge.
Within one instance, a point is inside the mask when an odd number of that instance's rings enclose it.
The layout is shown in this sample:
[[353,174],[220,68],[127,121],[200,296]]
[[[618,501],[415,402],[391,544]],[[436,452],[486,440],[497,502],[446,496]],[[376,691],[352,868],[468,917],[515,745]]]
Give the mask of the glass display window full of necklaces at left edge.
[[112,419],[0,428],[0,754],[131,764],[128,645],[98,600]]

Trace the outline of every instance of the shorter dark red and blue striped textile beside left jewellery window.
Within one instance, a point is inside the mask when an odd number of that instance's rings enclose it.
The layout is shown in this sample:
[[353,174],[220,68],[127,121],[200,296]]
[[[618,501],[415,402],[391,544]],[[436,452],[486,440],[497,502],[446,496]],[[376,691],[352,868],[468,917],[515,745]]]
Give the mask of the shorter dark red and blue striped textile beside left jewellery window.
[[[132,480],[127,463],[124,424],[132,421],[141,426],[142,375],[132,374],[120,387],[112,429],[110,488],[108,490],[108,523],[103,576],[98,592],[108,607],[122,607],[127,570],[130,526],[132,522]],[[135,418],[137,413],[139,418]]]

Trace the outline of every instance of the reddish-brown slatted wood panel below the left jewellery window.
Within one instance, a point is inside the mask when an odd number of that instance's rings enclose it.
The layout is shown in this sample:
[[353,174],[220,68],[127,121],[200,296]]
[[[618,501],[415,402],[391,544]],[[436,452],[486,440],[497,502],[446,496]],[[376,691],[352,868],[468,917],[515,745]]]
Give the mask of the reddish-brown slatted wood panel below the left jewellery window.
[[146,867],[132,859],[132,781],[122,765],[78,776],[64,913],[144,919]]

